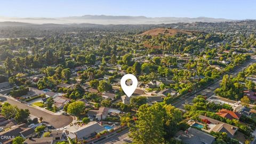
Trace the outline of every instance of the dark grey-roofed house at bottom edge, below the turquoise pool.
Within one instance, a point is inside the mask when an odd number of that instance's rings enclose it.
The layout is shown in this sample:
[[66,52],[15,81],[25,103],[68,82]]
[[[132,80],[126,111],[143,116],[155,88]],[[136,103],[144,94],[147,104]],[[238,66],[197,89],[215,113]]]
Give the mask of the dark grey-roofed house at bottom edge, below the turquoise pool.
[[189,127],[185,132],[179,131],[177,134],[175,134],[175,136],[178,140],[181,140],[187,144],[212,144],[215,140],[215,137],[212,135],[194,129],[193,127]]

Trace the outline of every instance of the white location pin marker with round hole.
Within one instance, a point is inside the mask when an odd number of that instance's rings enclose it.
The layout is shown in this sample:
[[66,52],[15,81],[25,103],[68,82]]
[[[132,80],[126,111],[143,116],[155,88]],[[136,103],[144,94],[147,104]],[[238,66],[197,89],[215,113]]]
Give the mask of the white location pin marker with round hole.
[[[126,85],[126,80],[127,79],[131,79],[132,80],[132,85]],[[138,80],[137,78],[132,75],[132,74],[126,74],[121,78],[121,87],[124,91],[124,93],[128,96],[131,97],[131,95],[133,94],[133,92],[136,90],[138,85]]]

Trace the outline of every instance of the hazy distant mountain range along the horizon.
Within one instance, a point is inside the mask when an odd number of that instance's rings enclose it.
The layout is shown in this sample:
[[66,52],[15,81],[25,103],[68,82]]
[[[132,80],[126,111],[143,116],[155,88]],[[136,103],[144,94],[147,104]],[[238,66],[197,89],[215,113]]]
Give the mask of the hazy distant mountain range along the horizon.
[[179,23],[179,22],[223,22],[239,21],[230,19],[215,18],[176,18],[176,17],[132,17],[132,16],[112,16],[112,15],[83,15],[82,17],[62,17],[62,18],[17,18],[0,17],[0,22],[25,22],[33,24],[55,23],[55,24],[74,24],[74,23],[94,23],[99,25],[139,25],[139,24],[161,24],[161,23]]

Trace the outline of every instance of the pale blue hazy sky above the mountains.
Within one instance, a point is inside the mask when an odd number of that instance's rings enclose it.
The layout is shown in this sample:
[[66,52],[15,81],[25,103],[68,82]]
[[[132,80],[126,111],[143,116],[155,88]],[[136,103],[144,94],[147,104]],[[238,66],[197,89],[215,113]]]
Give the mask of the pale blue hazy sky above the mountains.
[[256,19],[253,0],[4,0],[0,16],[69,17],[91,15],[143,15],[146,17],[212,17]]

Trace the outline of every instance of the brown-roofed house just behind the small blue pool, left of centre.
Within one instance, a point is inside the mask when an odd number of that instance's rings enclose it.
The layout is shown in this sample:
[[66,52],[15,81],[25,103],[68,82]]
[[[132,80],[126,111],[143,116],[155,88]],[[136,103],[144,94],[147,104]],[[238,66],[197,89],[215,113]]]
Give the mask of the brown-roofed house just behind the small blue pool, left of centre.
[[108,110],[109,108],[107,107],[100,107],[99,110],[89,110],[87,115],[89,117],[95,117],[98,119],[98,121],[101,121],[107,118]]

